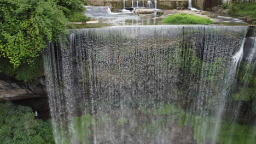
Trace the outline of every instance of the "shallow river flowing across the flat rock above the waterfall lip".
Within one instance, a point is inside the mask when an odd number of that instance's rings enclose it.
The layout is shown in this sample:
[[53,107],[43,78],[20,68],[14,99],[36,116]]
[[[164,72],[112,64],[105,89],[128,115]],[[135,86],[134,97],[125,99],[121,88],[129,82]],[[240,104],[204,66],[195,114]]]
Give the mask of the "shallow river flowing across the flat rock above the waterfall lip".
[[170,25],[162,20],[170,14],[188,13],[202,17],[208,17],[214,21],[213,25],[220,26],[248,26],[235,17],[219,15],[206,11],[193,10],[160,10],[155,9],[153,14],[135,14],[134,10],[119,10],[113,12],[109,7],[86,6],[85,15],[90,17],[87,23],[72,23],[75,28],[94,28],[109,26],[139,26],[139,25]]

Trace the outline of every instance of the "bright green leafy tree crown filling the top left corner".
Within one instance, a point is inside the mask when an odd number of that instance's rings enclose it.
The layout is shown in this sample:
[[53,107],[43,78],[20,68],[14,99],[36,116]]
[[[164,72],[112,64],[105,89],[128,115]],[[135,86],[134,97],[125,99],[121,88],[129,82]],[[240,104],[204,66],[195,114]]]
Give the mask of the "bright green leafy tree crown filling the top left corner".
[[8,58],[14,68],[33,64],[45,40],[65,33],[66,17],[53,1],[3,0],[0,7],[0,57]]

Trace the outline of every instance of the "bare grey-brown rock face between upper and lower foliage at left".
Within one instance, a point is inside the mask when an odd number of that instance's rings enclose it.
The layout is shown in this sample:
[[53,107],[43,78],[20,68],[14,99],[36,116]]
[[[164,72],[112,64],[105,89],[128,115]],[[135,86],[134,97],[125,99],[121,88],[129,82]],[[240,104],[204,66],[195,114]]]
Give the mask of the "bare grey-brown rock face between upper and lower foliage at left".
[[25,84],[3,73],[0,74],[0,101],[34,97],[47,97],[44,76],[38,77],[33,83]]

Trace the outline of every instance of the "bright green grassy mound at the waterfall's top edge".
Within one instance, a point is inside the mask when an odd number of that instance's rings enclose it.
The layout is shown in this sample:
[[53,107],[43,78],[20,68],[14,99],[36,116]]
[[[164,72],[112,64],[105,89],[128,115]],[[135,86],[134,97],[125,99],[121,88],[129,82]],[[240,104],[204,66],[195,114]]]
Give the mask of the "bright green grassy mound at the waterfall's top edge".
[[212,20],[196,16],[196,15],[191,15],[191,14],[174,14],[166,17],[162,22],[166,23],[172,23],[172,24],[200,24],[200,25],[210,25],[213,23]]

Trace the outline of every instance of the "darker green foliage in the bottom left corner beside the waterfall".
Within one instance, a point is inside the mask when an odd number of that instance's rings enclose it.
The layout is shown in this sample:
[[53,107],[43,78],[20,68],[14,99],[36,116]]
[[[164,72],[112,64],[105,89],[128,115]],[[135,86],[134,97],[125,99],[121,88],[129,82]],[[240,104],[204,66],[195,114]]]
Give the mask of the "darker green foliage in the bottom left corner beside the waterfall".
[[50,121],[34,119],[30,107],[0,103],[0,141],[3,144],[55,143]]

